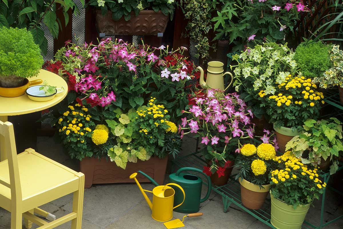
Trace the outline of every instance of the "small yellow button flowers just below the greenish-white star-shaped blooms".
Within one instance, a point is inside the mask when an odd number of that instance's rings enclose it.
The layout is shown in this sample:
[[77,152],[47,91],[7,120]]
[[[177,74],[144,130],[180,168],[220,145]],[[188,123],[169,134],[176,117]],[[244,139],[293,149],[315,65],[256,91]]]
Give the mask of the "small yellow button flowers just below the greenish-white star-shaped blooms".
[[[304,99],[310,99],[310,100],[321,100],[324,99],[324,95],[322,92],[317,92],[317,85],[314,83],[311,83],[311,79],[305,79],[305,77],[301,76],[301,77],[292,77],[292,75],[288,75],[288,77],[286,77],[286,80],[279,84],[277,86],[279,89],[281,89],[282,87],[284,87],[286,90],[289,90],[291,88],[302,88],[304,87],[305,90],[303,90],[301,93],[304,94]],[[261,93],[261,94],[260,94]],[[265,93],[263,91],[259,92],[260,97],[262,98]],[[286,106],[289,106],[292,103],[301,105],[303,104],[302,101],[293,101],[293,96],[292,95],[283,95],[282,93],[279,93],[278,95],[271,95],[269,96],[269,99],[273,99],[276,101],[276,105],[277,106],[281,106],[282,104],[285,104]],[[325,102],[322,100],[321,101],[322,104],[324,104]],[[309,102],[308,103],[309,106],[314,106],[315,103],[314,102]]]

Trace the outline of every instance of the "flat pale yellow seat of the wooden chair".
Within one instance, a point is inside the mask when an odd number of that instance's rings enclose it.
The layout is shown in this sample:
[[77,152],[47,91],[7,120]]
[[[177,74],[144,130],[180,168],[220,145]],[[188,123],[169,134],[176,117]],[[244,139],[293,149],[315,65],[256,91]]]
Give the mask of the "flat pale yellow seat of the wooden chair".
[[[43,156],[42,154],[35,152],[34,150],[32,150],[31,152],[27,152],[26,150],[25,152],[18,154],[17,159],[19,165],[23,201],[33,198],[37,195],[52,191],[57,187],[67,185],[69,183],[69,188],[62,188],[60,190],[62,193],[55,192],[54,195],[51,196],[51,199],[55,199],[57,196],[61,197],[67,195],[78,190],[79,188],[79,178],[76,176],[77,172]],[[7,160],[0,162],[0,180],[10,183]],[[63,190],[68,190],[68,192],[63,193]],[[0,184],[0,196],[1,195],[10,200],[10,188]],[[48,203],[50,199],[49,197],[47,198],[48,199],[44,201],[46,203]]]

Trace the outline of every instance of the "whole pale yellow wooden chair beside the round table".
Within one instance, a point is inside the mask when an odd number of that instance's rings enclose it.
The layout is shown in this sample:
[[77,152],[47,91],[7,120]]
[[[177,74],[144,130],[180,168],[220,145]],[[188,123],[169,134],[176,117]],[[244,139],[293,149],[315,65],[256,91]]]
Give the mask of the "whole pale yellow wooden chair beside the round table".
[[[71,229],[81,229],[84,174],[59,164],[34,149],[17,155],[13,125],[0,121],[0,135],[5,138],[7,160],[0,162],[0,207],[11,212],[11,229],[25,228],[32,222],[39,229],[55,228],[71,220]],[[3,152],[2,152],[3,153]],[[51,222],[34,215],[34,209],[73,193],[73,212]]]

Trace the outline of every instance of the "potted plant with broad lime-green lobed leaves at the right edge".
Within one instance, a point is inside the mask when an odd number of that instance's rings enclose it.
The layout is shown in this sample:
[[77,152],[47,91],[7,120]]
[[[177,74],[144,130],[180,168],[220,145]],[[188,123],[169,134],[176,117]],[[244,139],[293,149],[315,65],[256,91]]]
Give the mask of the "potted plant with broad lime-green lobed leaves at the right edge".
[[[342,123],[337,118],[315,121],[308,119],[304,122],[304,133],[295,136],[286,145],[286,150],[292,150],[301,162],[318,166],[330,174],[338,169],[338,157],[343,152]],[[308,156],[307,156],[308,153]]]

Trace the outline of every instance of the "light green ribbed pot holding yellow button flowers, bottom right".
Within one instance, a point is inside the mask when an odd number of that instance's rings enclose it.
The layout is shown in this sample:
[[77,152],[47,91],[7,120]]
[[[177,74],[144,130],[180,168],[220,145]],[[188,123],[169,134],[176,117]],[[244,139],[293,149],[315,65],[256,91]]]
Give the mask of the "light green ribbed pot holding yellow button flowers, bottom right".
[[279,199],[271,198],[271,224],[277,229],[300,229],[311,204],[299,205],[296,209]]

